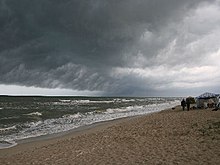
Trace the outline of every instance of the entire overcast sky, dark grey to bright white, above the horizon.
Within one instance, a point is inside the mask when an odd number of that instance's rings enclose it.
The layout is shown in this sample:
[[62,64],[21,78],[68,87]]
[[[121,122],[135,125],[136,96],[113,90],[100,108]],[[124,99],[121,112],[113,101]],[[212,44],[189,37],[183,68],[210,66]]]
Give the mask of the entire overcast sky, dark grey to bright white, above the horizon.
[[0,94],[220,93],[220,0],[0,0]]

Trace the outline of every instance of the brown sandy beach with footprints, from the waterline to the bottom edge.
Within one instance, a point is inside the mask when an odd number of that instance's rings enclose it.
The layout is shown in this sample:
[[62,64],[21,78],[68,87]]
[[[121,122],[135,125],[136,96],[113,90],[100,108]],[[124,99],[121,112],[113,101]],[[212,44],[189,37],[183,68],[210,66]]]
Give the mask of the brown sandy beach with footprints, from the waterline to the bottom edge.
[[220,164],[220,110],[165,110],[0,150],[0,164]]

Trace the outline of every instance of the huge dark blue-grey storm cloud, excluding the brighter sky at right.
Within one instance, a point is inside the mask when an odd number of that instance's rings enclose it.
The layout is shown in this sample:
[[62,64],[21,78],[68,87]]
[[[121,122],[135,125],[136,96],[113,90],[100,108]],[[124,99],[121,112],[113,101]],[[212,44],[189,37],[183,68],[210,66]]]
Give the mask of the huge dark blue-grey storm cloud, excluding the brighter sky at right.
[[112,94],[153,89],[148,78],[118,70],[160,64],[161,52],[175,38],[182,42],[180,22],[202,2],[1,0],[0,83]]

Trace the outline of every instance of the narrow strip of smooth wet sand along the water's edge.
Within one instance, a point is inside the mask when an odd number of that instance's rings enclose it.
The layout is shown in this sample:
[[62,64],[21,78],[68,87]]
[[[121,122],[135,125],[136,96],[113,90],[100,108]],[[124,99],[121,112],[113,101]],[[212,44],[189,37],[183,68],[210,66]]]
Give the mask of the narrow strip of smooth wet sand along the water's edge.
[[[161,110],[164,111],[164,110]],[[48,134],[48,135],[41,135],[41,136],[36,136],[36,137],[30,137],[22,140],[15,141],[15,145],[12,145],[10,147],[6,148],[0,148],[0,158],[8,155],[14,155],[20,150],[26,150],[26,149],[33,149],[36,146],[44,146],[45,144],[51,144],[51,143],[56,143],[60,140],[65,140],[71,137],[77,137],[83,134],[90,134],[94,132],[98,132],[101,130],[104,130],[108,127],[111,127],[115,124],[121,123],[121,122],[126,122],[129,121],[130,119],[133,118],[139,118],[143,117],[145,115],[149,115],[152,113],[158,113],[161,111],[157,112],[150,112],[144,115],[136,115],[136,116],[128,116],[128,117],[123,117],[123,118],[117,118],[113,120],[107,120],[107,121],[101,121],[97,123],[93,123],[90,125],[85,125],[85,126],[80,126],[78,128],[74,128],[68,131],[64,132],[59,132],[59,133],[54,133],[54,134]]]

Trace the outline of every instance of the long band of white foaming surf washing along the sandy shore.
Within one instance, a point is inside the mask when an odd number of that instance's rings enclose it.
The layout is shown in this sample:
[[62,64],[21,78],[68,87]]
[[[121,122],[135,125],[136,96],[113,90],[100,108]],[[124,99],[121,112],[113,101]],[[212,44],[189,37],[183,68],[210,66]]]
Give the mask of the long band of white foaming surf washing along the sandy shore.
[[106,112],[96,111],[85,114],[77,113],[74,115],[64,115],[57,119],[47,119],[44,121],[27,123],[22,131],[16,134],[0,137],[3,141],[16,141],[30,137],[36,137],[46,134],[54,134],[68,131],[85,125],[101,121],[109,121],[128,116],[143,115],[147,113],[161,111],[179,104],[178,101],[166,102],[162,104],[150,104],[144,106],[128,106],[124,108],[111,108]]

